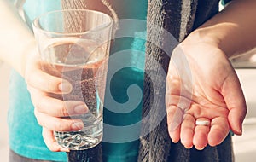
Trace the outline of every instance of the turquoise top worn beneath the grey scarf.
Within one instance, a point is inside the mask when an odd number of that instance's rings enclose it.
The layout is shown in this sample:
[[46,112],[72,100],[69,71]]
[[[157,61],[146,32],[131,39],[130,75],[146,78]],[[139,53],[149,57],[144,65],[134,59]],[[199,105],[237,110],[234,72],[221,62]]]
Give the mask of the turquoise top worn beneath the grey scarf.
[[[130,9],[127,9],[128,7]],[[61,9],[61,1],[26,0],[23,8],[26,22],[28,26],[31,26],[32,20],[39,14],[43,14],[50,10]],[[129,18],[146,20],[147,0],[123,0],[119,9],[122,11],[122,13],[119,13],[120,19]],[[146,26],[143,27],[144,29],[146,28]],[[129,26],[129,28],[132,29],[132,25]],[[129,97],[131,96],[127,95],[130,85],[137,84],[143,91],[145,41],[142,38],[145,38],[145,36],[145,30],[134,31],[132,37],[117,38],[113,43],[111,51],[113,57],[110,56],[108,65],[108,72],[113,72],[113,75],[108,77],[108,82],[110,84],[109,92],[111,95],[106,95],[105,101],[111,103],[113,100],[119,103],[119,107],[114,108],[120,112],[125,108],[122,107],[122,103],[130,100]],[[126,54],[125,59],[117,59],[114,57],[115,54],[121,54],[122,52]],[[116,67],[119,67],[118,65],[120,64],[124,64],[125,66],[118,70],[115,69]],[[113,111],[110,104],[110,107],[104,109],[104,124],[123,127],[137,123],[141,119],[141,107],[142,101],[138,101],[137,107],[134,107],[134,109],[126,113],[120,113],[119,111]],[[51,152],[44,144],[42,128],[38,125],[37,119],[34,117],[33,109],[34,107],[30,100],[30,94],[26,90],[24,79],[17,72],[13,71],[11,73],[9,84],[8,122],[10,148],[15,151],[15,153],[27,158],[67,161],[66,153]],[[102,147],[104,161],[136,161],[139,145],[137,131],[138,130],[129,132],[129,136],[131,135],[133,138],[127,140],[122,139],[125,135],[124,132],[109,132],[108,128],[104,127],[104,136],[106,135],[111,136],[113,139],[119,139],[117,141],[103,139]],[[127,136],[125,138],[127,138]]]

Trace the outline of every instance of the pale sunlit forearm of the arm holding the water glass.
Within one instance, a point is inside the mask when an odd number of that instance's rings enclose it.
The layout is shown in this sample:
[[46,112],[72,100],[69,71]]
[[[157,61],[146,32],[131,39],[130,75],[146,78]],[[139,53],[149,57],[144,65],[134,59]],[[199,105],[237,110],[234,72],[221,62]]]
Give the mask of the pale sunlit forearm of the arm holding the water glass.
[[0,1],[0,60],[24,75],[26,55],[35,47],[32,32],[9,1]]

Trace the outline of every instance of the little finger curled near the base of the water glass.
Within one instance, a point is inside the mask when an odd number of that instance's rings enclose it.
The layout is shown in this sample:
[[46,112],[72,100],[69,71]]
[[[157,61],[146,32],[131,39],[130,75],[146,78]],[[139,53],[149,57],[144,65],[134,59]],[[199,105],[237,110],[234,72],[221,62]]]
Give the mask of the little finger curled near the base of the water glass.
[[69,152],[69,149],[62,148],[58,142],[55,141],[55,136],[53,135],[53,131],[43,128],[42,135],[44,138],[44,142],[50,151],[53,152]]

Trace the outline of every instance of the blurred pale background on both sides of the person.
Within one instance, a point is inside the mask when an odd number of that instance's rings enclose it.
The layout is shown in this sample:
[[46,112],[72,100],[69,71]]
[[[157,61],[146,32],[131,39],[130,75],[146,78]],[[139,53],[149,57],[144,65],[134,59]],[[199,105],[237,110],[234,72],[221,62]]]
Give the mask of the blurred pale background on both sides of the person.
[[[256,159],[256,50],[240,57],[231,58],[233,66],[241,81],[248,113],[243,124],[243,135],[234,136],[234,153],[236,162],[254,162]],[[0,161],[8,162],[8,83],[9,67],[0,62]]]

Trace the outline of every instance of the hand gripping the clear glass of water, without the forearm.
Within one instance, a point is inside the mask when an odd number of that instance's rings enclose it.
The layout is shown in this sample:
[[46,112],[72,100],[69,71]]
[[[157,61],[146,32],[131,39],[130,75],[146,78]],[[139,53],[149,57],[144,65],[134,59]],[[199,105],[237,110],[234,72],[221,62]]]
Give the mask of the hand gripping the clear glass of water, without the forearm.
[[44,72],[37,50],[32,50],[26,61],[25,78],[27,89],[35,107],[38,124],[43,126],[44,142],[51,151],[68,151],[55,141],[53,131],[81,130],[84,127],[80,119],[61,119],[69,115],[82,114],[88,108],[82,101],[62,101],[52,97],[72,91],[72,85],[62,78]]

